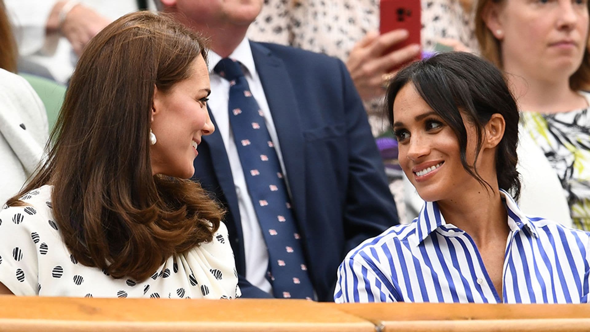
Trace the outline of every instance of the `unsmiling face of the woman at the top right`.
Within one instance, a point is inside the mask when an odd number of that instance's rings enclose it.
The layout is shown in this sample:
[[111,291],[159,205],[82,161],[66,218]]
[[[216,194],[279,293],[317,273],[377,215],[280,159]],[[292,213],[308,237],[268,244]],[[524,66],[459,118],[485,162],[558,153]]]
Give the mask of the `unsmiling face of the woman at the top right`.
[[588,0],[505,0],[487,25],[501,43],[504,69],[536,79],[569,77],[588,44]]

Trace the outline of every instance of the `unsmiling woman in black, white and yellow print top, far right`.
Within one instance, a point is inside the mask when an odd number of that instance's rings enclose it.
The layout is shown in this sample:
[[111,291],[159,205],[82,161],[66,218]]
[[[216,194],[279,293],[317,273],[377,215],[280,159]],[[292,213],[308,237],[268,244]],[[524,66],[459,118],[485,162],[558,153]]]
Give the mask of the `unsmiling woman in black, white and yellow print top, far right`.
[[[506,71],[524,133],[545,153],[573,225],[590,229],[588,1],[482,0],[481,53]],[[542,179],[539,179],[540,181]]]

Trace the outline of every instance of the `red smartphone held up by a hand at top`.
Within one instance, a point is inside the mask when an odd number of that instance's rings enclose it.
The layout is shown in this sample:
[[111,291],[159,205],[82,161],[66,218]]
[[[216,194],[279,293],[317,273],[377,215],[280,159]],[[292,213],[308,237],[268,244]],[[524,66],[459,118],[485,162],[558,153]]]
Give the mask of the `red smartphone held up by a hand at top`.
[[[420,30],[422,29],[422,22],[420,20],[421,9],[420,0],[381,0],[379,4],[379,32],[384,34],[385,32],[396,29],[405,29],[409,32],[406,40],[395,44],[394,47],[385,51],[383,54],[399,50],[411,44],[420,45]],[[420,60],[420,57],[420,54],[418,54],[418,56],[408,62]],[[399,69],[399,67],[405,64],[407,63],[392,68],[392,70]]]

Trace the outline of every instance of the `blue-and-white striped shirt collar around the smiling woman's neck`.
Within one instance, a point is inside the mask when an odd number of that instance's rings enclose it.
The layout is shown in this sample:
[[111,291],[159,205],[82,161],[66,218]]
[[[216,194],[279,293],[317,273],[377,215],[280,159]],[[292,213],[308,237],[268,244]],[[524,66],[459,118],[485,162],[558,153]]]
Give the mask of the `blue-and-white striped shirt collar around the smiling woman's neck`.
[[[512,232],[518,232],[522,230],[524,227],[529,231],[532,236],[537,237],[537,231],[535,227],[530,222],[529,218],[525,216],[525,214],[519,209],[516,202],[510,197],[510,194],[506,193],[506,191],[500,189],[500,197],[504,200],[504,206],[506,206],[506,211],[508,213],[508,227]],[[440,209],[438,208],[437,202],[425,202],[420,214],[418,214],[417,218],[417,232],[416,235],[418,237],[418,242],[416,245],[419,245],[424,241],[430,233],[434,232],[434,230],[442,227],[444,232],[447,231],[445,227],[447,223],[442,216]]]

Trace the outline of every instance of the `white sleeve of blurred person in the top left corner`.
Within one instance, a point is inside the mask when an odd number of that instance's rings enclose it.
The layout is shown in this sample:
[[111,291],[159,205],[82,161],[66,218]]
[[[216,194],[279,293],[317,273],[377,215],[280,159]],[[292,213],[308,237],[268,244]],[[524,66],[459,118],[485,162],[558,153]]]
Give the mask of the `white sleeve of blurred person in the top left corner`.
[[28,56],[45,44],[45,25],[55,0],[4,0],[11,20],[18,53]]

